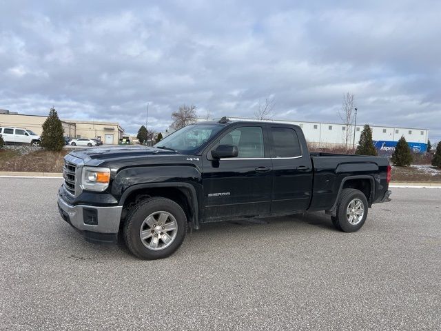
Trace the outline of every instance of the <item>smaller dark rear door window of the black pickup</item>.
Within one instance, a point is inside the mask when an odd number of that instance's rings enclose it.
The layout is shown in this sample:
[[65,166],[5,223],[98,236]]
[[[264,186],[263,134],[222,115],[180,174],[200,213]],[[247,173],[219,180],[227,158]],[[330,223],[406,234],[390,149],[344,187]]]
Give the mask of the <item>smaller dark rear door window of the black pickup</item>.
[[297,133],[289,128],[271,128],[273,146],[271,157],[300,157],[300,142]]

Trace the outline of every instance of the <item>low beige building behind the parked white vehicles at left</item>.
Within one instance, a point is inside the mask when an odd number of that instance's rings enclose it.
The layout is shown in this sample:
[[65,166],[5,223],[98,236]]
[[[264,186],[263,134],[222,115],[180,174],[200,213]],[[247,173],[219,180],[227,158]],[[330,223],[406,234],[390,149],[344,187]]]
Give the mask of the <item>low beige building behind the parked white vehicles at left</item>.
[[[6,112],[6,111],[5,111]],[[41,134],[46,116],[0,113],[0,126],[26,128]],[[65,137],[101,139],[103,143],[117,145],[124,130],[119,123],[61,119]]]

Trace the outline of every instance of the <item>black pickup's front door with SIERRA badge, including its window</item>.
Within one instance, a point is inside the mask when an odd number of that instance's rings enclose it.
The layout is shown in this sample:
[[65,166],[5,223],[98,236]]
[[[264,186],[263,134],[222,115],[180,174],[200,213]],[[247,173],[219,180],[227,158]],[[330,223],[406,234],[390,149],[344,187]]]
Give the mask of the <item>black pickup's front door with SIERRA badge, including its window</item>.
[[[204,219],[266,214],[271,208],[272,163],[263,126],[225,132],[203,154]],[[211,150],[234,145],[238,156],[212,159]]]

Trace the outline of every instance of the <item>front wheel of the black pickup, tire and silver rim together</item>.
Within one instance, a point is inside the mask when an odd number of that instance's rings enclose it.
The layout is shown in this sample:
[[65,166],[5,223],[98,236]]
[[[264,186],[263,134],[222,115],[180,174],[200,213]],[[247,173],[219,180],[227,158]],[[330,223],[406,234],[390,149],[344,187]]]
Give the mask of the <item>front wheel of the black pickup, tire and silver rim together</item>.
[[146,260],[169,257],[181,246],[186,233],[187,217],[181,206],[161,197],[135,205],[123,229],[127,248]]

